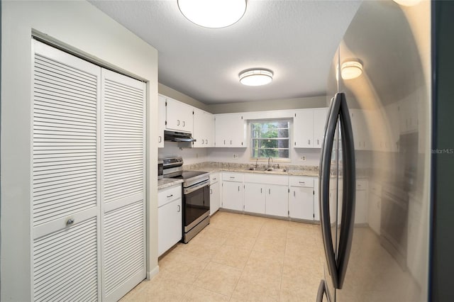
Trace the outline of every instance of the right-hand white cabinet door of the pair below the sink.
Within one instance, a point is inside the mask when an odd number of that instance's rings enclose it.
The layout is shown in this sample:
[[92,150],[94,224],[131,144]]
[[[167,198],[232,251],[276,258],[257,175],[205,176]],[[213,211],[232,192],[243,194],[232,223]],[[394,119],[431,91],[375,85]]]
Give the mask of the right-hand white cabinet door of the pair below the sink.
[[265,186],[267,215],[288,217],[289,215],[289,187],[268,184]]

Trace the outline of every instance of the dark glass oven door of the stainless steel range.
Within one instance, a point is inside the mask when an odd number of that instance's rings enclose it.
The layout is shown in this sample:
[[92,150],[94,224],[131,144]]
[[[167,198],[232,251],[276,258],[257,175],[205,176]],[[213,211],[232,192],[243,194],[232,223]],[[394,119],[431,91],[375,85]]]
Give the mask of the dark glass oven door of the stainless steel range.
[[196,190],[184,189],[183,201],[184,233],[189,232],[194,226],[209,216],[210,190],[209,182]]

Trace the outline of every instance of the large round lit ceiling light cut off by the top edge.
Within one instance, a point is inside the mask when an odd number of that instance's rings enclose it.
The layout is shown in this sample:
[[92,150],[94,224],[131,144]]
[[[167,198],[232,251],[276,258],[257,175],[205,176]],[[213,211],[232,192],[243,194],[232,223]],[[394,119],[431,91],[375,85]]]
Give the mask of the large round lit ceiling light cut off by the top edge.
[[207,28],[231,26],[243,17],[246,0],[177,0],[179,11],[192,23]]

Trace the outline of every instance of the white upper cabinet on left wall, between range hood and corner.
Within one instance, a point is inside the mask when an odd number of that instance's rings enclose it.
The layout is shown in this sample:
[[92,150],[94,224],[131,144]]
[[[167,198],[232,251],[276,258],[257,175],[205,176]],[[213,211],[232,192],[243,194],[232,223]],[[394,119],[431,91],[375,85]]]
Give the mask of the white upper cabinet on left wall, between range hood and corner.
[[196,139],[192,147],[214,147],[214,115],[194,108],[194,131]]

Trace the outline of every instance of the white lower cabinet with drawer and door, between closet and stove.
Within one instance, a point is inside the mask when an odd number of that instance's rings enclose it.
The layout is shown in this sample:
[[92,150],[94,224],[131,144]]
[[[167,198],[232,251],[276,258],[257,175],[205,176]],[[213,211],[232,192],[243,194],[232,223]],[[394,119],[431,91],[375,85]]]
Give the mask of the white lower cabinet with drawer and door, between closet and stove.
[[157,254],[162,255],[182,239],[182,186],[157,193]]

